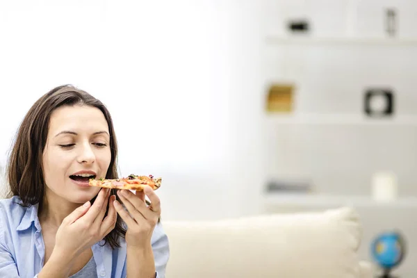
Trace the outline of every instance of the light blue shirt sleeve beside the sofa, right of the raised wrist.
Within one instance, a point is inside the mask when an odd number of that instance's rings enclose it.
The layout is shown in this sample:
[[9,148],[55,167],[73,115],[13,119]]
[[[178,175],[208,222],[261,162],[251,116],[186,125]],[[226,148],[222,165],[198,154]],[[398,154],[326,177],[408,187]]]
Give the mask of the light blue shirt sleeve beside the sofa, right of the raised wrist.
[[165,270],[168,259],[170,259],[170,245],[168,237],[163,231],[161,221],[156,224],[152,234],[152,250],[156,269],[156,278],[165,278]]

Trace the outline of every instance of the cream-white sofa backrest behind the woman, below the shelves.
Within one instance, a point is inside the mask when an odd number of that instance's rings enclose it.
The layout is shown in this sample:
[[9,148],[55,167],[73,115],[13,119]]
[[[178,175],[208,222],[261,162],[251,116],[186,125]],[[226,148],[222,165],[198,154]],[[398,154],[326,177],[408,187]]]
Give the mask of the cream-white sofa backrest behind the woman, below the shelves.
[[167,278],[373,277],[357,254],[361,224],[352,208],[163,226]]

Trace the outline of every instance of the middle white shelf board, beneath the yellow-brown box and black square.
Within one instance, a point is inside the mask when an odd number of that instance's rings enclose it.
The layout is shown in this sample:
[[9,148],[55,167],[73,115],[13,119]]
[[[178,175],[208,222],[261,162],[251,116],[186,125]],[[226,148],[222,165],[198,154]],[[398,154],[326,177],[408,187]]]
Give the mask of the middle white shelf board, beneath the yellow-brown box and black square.
[[272,124],[294,124],[294,125],[390,125],[390,126],[416,126],[417,115],[397,115],[393,117],[367,117],[357,114],[294,114],[285,115],[278,113],[268,113],[265,115],[268,122]]

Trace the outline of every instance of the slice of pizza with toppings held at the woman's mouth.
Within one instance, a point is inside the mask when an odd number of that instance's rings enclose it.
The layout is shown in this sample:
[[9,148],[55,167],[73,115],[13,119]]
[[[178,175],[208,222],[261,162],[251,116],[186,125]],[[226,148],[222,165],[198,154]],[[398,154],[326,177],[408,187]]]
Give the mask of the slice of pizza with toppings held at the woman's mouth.
[[115,189],[129,189],[141,191],[145,186],[150,186],[154,190],[161,186],[161,178],[154,178],[152,174],[149,176],[137,176],[131,174],[129,177],[121,179],[90,179],[90,186],[97,186],[102,188],[115,188]]

